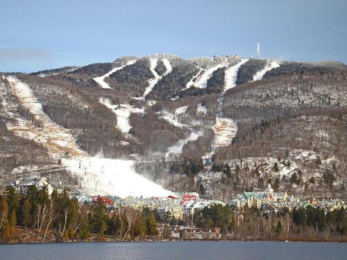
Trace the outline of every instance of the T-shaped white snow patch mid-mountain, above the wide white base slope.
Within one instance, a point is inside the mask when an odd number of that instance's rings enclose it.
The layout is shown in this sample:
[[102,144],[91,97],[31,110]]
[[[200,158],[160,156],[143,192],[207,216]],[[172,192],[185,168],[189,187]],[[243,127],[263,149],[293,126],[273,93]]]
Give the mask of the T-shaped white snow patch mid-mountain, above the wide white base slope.
[[131,113],[144,113],[144,108],[133,107],[129,104],[112,105],[108,98],[100,98],[99,102],[108,107],[117,116],[117,127],[121,132],[128,133],[131,129],[129,116]]

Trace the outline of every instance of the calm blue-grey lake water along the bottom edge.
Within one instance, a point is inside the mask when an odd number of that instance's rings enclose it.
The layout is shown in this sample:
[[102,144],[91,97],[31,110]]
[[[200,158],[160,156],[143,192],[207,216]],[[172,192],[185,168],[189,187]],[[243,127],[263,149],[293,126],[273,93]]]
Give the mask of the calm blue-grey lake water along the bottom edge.
[[139,242],[0,245],[0,259],[347,259],[344,243]]

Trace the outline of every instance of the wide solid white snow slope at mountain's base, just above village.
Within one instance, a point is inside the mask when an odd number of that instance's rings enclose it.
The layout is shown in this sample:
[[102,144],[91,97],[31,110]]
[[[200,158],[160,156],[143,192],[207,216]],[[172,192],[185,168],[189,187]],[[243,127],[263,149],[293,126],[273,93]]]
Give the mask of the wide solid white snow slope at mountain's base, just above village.
[[171,191],[135,173],[134,161],[81,157],[63,159],[62,164],[69,166],[71,173],[81,182],[81,189],[90,195],[101,194],[120,198],[173,195]]

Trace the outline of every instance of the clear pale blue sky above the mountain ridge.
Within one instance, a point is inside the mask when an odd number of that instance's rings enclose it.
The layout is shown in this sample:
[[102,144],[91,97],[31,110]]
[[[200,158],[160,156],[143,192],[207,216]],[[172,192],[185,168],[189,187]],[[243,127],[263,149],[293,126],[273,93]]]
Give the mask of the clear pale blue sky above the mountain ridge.
[[346,0],[1,0],[0,71],[120,55],[347,62]]

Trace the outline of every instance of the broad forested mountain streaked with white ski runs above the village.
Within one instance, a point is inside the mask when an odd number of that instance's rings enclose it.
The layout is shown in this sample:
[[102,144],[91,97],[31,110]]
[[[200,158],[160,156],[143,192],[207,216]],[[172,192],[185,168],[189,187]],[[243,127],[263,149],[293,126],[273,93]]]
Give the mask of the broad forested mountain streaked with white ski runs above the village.
[[0,180],[228,202],[244,190],[345,196],[347,66],[157,53],[0,73]]

